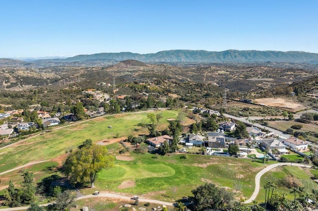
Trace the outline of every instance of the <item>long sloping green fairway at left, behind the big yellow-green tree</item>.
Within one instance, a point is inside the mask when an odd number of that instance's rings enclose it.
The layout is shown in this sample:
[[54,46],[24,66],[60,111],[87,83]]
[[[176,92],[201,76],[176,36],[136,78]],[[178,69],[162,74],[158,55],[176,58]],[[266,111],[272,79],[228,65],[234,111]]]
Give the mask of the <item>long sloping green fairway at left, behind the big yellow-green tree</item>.
[[[155,111],[152,111],[155,112]],[[164,118],[159,121],[159,127],[168,125],[166,119],[176,118],[178,110],[162,110]],[[75,150],[86,139],[93,142],[107,141],[114,137],[126,138],[129,134],[148,134],[147,129],[138,127],[140,122],[150,123],[147,113],[130,113],[105,116],[79,124],[72,124],[51,132],[28,139],[0,150],[0,172],[21,166],[31,161],[56,158]],[[111,125],[112,128],[108,128]]]

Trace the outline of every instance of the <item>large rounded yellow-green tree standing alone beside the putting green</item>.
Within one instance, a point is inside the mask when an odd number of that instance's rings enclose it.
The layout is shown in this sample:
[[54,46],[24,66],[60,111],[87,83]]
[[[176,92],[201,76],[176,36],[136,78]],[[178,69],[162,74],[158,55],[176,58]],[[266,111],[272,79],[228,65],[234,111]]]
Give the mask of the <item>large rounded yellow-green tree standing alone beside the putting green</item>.
[[108,155],[104,146],[92,145],[71,153],[63,165],[64,173],[73,185],[90,182],[94,187],[97,173],[113,166],[114,157]]

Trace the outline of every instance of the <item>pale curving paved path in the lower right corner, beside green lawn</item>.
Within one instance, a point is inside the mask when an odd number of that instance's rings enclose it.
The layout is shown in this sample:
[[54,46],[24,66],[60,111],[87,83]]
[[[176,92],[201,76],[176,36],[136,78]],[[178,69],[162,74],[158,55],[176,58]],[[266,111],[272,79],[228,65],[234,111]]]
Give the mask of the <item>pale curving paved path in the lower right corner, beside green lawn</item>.
[[306,168],[311,168],[311,165],[305,165],[305,164],[300,164],[300,163],[293,163],[291,164],[290,162],[281,162],[281,163],[274,163],[271,165],[268,165],[266,168],[262,169],[261,171],[259,171],[256,176],[255,176],[255,190],[252,194],[252,196],[247,199],[244,204],[249,204],[251,203],[253,200],[256,199],[258,192],[259,192],[259,188],[260,188],[260,178],[261,176],[266,173],[267,171],[277,167],[277,166],[281,166],[281,165],[293,165],[293,166],[300,166],[300,167],[306,167]]

